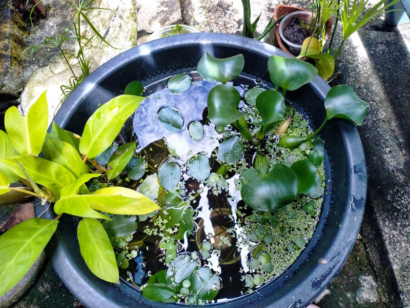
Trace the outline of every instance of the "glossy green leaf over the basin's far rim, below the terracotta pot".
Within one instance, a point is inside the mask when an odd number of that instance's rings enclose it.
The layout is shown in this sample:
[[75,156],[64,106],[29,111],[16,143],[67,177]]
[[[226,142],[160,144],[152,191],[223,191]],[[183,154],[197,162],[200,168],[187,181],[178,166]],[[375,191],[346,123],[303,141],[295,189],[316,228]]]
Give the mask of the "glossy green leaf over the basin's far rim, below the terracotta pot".
[[272,82],[284,92],[300,88],[317,75],[317,69],[312,64],[294,57],[271,55],[268,68]]

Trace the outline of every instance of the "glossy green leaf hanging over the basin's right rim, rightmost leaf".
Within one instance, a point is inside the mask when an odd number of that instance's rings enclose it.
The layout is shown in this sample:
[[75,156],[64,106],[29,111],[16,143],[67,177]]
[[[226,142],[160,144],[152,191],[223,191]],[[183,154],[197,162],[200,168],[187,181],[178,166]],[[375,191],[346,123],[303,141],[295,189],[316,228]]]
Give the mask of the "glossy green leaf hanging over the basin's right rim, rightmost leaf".
[[324,108],[327,120],[341,118],[362,125],[368,104],[359,99],[350,87],[338,85],[327,93]]

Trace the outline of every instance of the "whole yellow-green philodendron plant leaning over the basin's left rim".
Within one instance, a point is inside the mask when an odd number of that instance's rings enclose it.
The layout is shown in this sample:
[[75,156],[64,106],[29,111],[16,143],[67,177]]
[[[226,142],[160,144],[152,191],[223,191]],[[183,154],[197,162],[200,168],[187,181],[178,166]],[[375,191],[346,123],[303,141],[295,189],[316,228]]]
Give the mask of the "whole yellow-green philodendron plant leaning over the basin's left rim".
[[[78,243],[81,255],[97,277],[119,283],[115,254],[99,220],[110,214],[141,215],[159,206],[135,190],[110,186],[110,180],[126,167],[136,142],[118,147],[106,165],[96,157],[106,150],[124,122],[145,98],[120,95],[99,107],[87,121],[82,137],[53,123],[47,132],[47,101],[44,92],[26,117],[16,107],[5,114],[6,131],[0,130],[0,194],[10,190],[54,202],[53,220],[32,218],[9,229],[0,237],[0,296],[30,269],[54,234],[58,219],[65,213],[81,218]],[[43,152],[44,157],[39,157]],[[107,183],[90,192],[85,185],[105,175]],[[21,182],[23,187],[10,186]],[[105,186],[105,187],[104,187]]]

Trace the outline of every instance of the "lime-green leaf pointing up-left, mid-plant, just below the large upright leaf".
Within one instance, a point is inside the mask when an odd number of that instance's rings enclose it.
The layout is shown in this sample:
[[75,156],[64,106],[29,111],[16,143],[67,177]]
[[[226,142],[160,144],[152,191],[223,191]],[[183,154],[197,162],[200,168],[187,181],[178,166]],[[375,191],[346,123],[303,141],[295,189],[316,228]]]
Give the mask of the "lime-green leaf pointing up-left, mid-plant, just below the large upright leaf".
[[69,143],[59,140],[47,140],[50,159],[66,167],[75,178],[88,173],[89,168],[79,156],[77,150]]

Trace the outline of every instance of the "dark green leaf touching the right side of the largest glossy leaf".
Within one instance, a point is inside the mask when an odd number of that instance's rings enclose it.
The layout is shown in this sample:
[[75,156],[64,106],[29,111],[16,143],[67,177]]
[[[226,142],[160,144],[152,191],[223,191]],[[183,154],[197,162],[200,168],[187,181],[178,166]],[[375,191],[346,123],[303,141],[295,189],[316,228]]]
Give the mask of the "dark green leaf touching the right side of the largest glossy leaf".
[[309,194],[319,183],[315,165],[308,160],[292,164],[291,169],[298,178],[298,193]]

